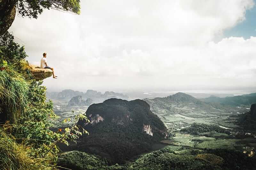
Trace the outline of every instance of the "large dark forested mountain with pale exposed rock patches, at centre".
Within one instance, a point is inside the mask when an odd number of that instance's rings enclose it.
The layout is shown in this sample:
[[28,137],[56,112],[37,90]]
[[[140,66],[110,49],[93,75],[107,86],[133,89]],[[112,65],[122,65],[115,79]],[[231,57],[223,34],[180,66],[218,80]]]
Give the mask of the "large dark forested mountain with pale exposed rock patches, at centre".
[[77,145],[68,149],[95,153],[113,164],[150,151],[152,144],[168,136],[164,123],[143,100],[109,99],[92,104],[86,115],[90,122],[77,124],[89,136],[83,135]]

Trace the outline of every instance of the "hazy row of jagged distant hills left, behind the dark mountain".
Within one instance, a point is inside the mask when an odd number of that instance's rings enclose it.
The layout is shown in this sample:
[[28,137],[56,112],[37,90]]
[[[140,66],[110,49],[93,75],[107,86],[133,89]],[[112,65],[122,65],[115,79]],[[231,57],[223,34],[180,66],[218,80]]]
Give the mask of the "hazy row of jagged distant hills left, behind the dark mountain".
[[95,90],[87,90],[86,92],[79,92],[74,90],[63,90],[61,92],[46,92],[46,97],[48,99],[57,99],[57,100],[70,100],[72,97],[82,96],[84,100],[90,98],[95,103],[103,102],[104,100],[110,98],[118,98],[123,100],[128,100],[129,97],[122,93],[117,92],[105,92],[102,94],[101,92],[97,92]]

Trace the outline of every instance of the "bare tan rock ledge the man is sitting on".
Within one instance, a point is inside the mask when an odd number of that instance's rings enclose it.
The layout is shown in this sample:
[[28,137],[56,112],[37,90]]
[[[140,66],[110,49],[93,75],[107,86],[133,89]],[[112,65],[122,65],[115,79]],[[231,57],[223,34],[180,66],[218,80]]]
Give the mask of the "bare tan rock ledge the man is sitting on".
[[31,69],[31,73],[35,77],[37,81],[43,80],[45,78],[52,76],[52,70],[51,69],[41,69],[39,66],[29,64],[29,67]]

